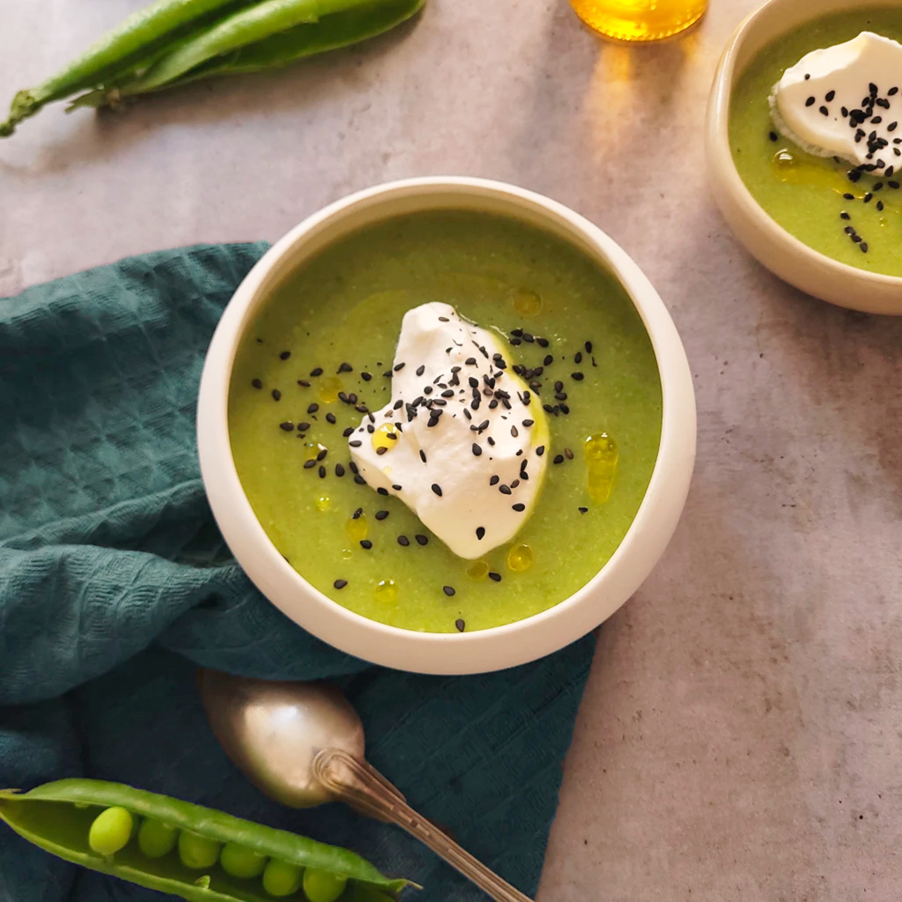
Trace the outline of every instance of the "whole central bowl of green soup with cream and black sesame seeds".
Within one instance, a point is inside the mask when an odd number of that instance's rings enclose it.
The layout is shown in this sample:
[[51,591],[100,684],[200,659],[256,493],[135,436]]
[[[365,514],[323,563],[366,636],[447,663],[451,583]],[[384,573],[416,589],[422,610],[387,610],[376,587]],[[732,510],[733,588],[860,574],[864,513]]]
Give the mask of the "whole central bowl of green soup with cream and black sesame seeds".
[[481,179],[310,216],[241,283],[198,400],[253,583],[338,649],[488,671],[594,629],[649,574],[695,458],[686,354],[572,210]]

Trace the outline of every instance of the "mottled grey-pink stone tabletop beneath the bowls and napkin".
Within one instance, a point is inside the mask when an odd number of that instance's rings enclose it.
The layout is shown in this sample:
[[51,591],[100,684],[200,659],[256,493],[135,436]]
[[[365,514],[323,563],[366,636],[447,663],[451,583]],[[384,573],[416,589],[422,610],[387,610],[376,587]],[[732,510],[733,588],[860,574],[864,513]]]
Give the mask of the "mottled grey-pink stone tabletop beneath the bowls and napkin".
[[[144,0],[0,0],[0,93]],[[801,2],[801,0],[800,0]],[[566,0],[431,0],[419,23],[127,115],[60,107],[0,144],[0,293],[130,253],[273,239],[410,175],[520,183],[648,272],[698,391],[667,556],[602,632],[540,902],[897,902],[902,319],[806,298],[705,186],[717,55],[756,0],[657,47]]]

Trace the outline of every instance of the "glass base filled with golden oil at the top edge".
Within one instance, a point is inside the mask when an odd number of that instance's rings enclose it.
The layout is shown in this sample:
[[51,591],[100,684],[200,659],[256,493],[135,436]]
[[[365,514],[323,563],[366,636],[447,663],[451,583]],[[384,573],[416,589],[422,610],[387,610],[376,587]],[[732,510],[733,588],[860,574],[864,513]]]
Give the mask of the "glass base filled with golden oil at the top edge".
[[658,41],[685,31],[708,0],[570,0],[591,29],[618,41]]

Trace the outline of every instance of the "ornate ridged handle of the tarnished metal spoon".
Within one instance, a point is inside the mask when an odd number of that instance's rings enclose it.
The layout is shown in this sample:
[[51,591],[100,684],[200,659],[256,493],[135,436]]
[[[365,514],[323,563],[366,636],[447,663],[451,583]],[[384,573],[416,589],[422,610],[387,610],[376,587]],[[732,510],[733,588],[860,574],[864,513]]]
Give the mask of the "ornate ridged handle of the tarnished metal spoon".
[[398,824],[420,842],[428,845],[451,867],[472,880],[495,902],[531,902],[519,889],[502,880],[462,849],[446,833],[420,817],[407,804],[400,791],[367,764],[340,749],[324,749],[313,761],[313,772],[331,793],[364,815]]

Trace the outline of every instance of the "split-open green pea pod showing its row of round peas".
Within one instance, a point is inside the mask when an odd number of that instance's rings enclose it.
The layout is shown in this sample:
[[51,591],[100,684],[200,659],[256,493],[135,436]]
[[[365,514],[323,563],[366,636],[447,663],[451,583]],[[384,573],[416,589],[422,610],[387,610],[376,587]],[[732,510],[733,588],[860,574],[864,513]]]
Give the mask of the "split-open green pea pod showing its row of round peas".
[[[111,812],[119,816],[108,817]],[[324,897],[327,902],[383,902],[414,885],[383,876],[353,851],[102,780],[58,780],[27,793],[0,790],[0,821],[66,861],[192,902],[272,902],[277,896],[308,899],[302,877],[315,873],[333,878],[316,881],[334,888]],[[168,848],[145,854],[139,825],[147,824],[170,833]],[[121,834],[118,839],[117,832]],[[253,877],[227,872],[230,865],[226,861],[224,866],[220,857],[224,848],[241,851],[245,860],[253,857],[259,861],[260,868],[253,869],[258,872]],[[274,886],[267,879],[270,870],[281,877],[273,892],[267,889]],[[296,886],[284,879],[292,872],[297,874]],[[319,900],[311,898],[310,902]]]

